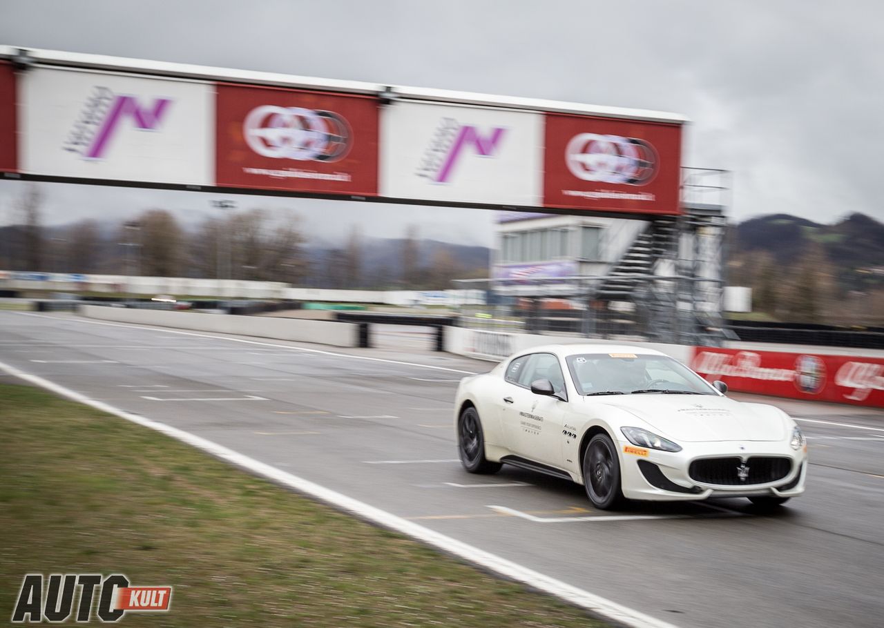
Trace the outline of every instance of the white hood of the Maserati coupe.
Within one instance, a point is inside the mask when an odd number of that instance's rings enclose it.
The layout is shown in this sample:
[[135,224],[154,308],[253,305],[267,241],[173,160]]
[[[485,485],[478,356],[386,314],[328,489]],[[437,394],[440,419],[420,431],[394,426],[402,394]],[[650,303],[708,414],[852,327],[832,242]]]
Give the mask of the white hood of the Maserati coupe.
[[623,395],[606,405],[630,412],[660,435],[683,443],[781,441],[787,427],[771,405],[742,404],[712,395]]

